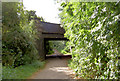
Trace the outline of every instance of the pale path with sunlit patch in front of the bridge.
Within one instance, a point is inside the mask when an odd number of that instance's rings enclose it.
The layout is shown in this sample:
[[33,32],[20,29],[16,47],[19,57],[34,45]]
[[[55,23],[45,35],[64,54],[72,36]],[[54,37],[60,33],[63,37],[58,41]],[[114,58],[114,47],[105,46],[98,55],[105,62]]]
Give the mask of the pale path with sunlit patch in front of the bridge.
[[44,69],[36,72],[29,79],[71,79],[72,70],[68,68],[70,57],[48,58]]

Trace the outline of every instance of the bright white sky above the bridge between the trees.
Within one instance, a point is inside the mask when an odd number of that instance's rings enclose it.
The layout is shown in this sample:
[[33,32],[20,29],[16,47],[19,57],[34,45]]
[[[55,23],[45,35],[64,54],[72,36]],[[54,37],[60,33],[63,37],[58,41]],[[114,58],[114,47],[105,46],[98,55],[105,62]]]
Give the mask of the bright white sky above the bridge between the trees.
[[39,17],[43,17],[46,22],[60,24],[59,3],[55,0],[23,0],[26,10],[35,10]]

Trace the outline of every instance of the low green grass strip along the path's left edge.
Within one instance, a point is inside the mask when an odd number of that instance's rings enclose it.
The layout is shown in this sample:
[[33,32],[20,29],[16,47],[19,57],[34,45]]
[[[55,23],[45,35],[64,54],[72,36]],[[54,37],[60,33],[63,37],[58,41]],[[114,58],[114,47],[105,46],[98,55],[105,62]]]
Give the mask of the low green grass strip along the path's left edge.
[[2,79],[27,79],[34,72],[43,68],[45,62],[35,61],[32,64],[19,66],[16,68],[2,67]]

